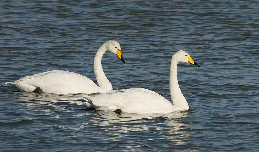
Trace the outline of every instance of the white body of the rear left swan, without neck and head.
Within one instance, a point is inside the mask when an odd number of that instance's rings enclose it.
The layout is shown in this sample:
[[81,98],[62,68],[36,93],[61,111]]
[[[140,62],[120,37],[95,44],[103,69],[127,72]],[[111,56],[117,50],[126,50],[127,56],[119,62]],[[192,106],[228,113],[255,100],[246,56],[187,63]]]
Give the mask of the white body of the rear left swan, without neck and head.
[[[99,87],[89,78],[69,71],[47,71],[26,76],[15,82],[7,82],[21,91],[33,91],[39,87],[46,93],[96,93]],[[33,89],[34,88],[34,89]]]

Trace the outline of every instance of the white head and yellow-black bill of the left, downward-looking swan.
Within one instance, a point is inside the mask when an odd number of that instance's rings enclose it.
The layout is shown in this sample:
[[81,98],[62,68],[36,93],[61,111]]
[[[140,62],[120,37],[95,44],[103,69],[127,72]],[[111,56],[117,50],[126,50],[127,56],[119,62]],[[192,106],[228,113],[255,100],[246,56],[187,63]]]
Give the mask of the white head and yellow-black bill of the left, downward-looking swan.
[[121,46],[117,41],[114,40],[110,40],[106,42],[107,45],[107,50],[111,51],[112,53],[116,54],[117,57],[119,57],[119,59],[121,59],[121,61],[123,63],[126,63],[122,57],[122,52],[121,52]]

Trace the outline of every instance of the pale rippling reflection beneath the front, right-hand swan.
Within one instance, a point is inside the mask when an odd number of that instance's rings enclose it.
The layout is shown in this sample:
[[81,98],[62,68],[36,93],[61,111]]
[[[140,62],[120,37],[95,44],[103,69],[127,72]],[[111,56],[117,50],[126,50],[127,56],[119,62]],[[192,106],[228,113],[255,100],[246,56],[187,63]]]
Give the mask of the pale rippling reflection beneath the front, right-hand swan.
[[97,128],[106,128],[105,134],[112,137],[139,136],[154,142],[163,138],[173,145],[185,145],[186,139],[193,133],[188,129],[188,124],[192,122],[185,120],[192,110],[159,114],[116,114],[113,111],[96,110],[94,113],[97,116],[90,120]]

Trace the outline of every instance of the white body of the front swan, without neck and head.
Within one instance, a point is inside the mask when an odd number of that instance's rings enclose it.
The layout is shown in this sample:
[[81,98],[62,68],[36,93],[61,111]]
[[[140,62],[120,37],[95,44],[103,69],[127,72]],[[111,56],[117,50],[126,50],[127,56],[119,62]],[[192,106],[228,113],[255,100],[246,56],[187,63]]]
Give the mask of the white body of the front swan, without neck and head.
[[112,90],[96,96],[87,97],[97,110],[121,109],[127,113],[167,113],[175,111],[170,101],[143,88]]

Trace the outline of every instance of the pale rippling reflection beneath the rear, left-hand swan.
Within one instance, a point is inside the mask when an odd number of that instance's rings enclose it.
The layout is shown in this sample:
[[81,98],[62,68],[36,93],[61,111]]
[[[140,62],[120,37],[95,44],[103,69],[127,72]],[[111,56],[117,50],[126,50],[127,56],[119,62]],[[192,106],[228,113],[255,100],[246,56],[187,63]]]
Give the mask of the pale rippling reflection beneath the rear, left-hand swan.
[[[31,111],[45,111],[46,115],[48,112],[69,112],[77,113],[77,106],[82,104],[91,106],[90,103],[82,99],[82,94],[52,94],[52,93],[32,93],[32,92],[19,92],[10,94],[15,104],[27,106],[25,109]],[[56,117],[59,117],[58,115]]]

